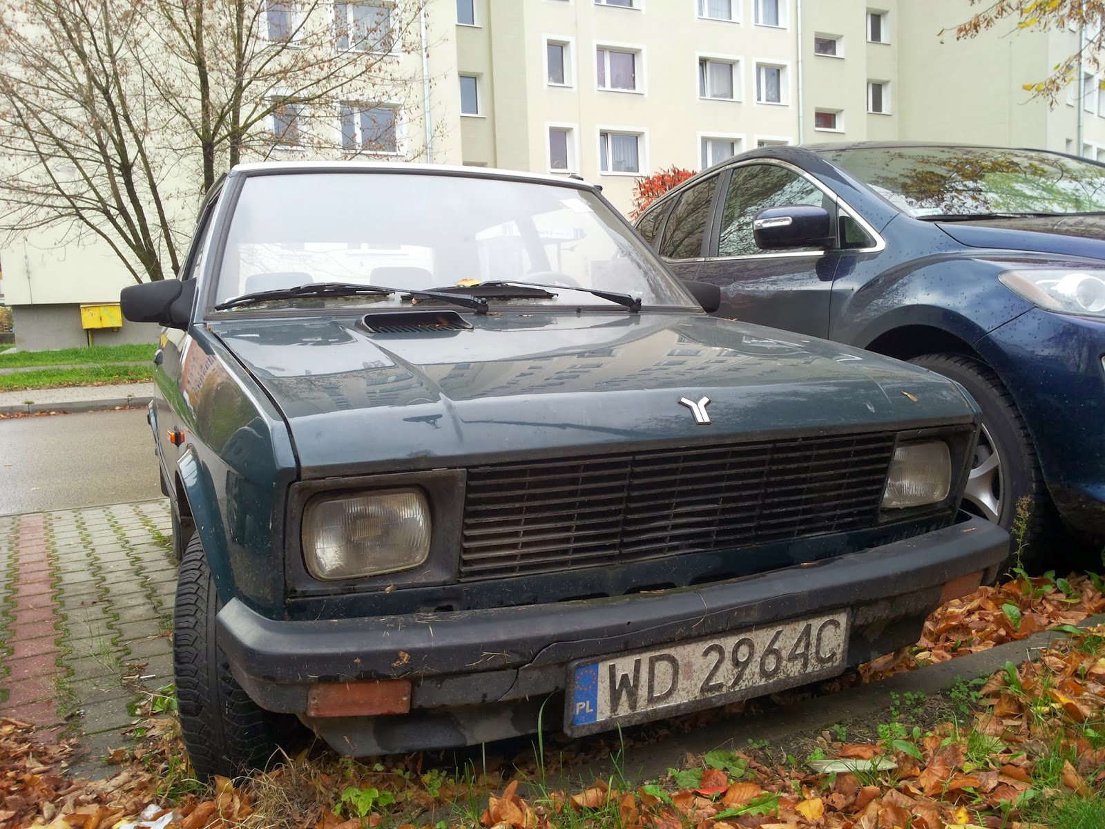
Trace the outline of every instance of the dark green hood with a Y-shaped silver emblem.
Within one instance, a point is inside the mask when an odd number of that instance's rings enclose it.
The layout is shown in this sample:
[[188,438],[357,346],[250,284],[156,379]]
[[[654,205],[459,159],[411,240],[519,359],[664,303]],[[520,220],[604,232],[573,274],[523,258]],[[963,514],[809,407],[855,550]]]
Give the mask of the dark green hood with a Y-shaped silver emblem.
[[[690,314],[511,314],[373,335],[357,318],[210,328],[280,408],[304,478],[971,422],[935,374]],[[708,397],[708,426],[681,398]]]

